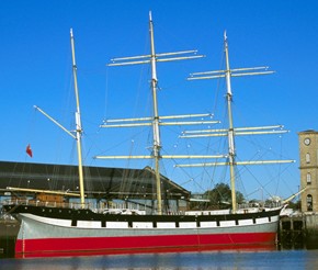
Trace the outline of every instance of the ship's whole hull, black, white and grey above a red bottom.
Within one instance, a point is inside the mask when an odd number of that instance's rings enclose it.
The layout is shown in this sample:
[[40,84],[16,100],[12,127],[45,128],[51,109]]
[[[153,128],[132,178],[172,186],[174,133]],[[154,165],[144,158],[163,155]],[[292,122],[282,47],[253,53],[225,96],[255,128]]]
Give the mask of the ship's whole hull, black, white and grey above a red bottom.
[[217,216],[100,216],[89,212],[86,218],[77,211],[77,216],[70,213],[72,218],[66,218],[57,216],[57,210],[45,209],[42,213],[49,213],[45,215],[26,210],[18,214],[19,258],[274,249],[279,222],[279,211]]

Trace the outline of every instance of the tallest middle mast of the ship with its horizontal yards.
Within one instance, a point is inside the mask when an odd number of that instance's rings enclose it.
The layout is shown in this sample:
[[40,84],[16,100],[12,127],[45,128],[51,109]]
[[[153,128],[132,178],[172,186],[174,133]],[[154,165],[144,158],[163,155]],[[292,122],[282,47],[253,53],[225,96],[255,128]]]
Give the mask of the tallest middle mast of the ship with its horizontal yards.
[[[183,50],[175,53],[162,53],[156,54],[155,50],[155,38],[154,38],[154,23],[151,18],[151,12],[149,12],[149,35],[150,35],[150,55],[141,56],[132,56],[132,57],[121,57],[112,59],[112,64],[109,66],[128,66],[128,65],[139,65],[139,64],[150,64],[151,66],[151,92],[152,92],[152,106],[154,106],[154,116],[152,117],[140,117],[140,119],[124,119],[124,120],[107,120],[104,125],[101,127],[136,127],[136,126],[152,126],[152,154],[150,156],[95,156],[99,159],[127,159],[127,158],[152,158],[155,160],[155,178],[157,185],[157,213],[162,214],[162,200],[161,200],[161,177],[160,177],[160,159],[161,158],[186,158],[185,156],[179,157],[162,157],[160,155],[161,142],[160,142],[160,125],[177,125],[177,124],[203,124],[203,123],[216,123],[216,121],[196,121],[196,122],[169,122],[162,123],[161,120],[171,120],[171,119],[189,119],[189,117],[198,117],[198,116],[211,116],[211,114],[196,114],[196,115],[177,115],[177,116],[159,116],[158,112],[158,100],[157,100],[157,61],[172,61],[172,60],[184,60],[184,59],[194,59],[201,58],[203,55],[192,55],[196,54],[196,50]],[[122,122],[136,122],[128,124],[111,124],[107,123],[122,123]],[[214,158],[214,157],[213,157]]]

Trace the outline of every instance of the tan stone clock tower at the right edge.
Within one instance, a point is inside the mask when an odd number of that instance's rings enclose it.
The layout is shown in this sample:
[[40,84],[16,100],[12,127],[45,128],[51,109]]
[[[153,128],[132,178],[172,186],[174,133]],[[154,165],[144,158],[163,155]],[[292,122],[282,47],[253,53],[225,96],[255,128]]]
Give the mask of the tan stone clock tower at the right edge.
[[307,188],[302,193],[302,212],[318,213],[318,132],[299,132],[298,139],[300,188]]

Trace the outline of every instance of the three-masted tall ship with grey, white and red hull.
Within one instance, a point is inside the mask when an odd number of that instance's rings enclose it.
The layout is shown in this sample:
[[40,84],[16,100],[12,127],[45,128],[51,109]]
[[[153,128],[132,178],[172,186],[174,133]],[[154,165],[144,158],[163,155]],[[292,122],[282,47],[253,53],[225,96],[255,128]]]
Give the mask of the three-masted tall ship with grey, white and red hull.
[[[75,41],[70,32],[72,70],[76,92],[76,128],[68,132],[78,146],[79,193],[59,193],[47,191],[47,194],[79,196],[78,206],[65,203],[41,204],[36,202],[13,201],[3,205],[7,213],[21,222],[15,244],[15,256],[55,257],[55,256],[89,256],[106,254],[137,254],[137,252],[173,252],[201,251],[240,248],[274,248],[282,205],[274,207],[239,207],[236,192],[236,166],[286,164],[293,160],[237,161],[235,137],[237,135],[258,135],[283,133],[282,126],[235,127],[232,121],[232,90],[231,78],[246,75],[265,75],[272,71],[264,67],[231,69],[228,57],[228,43],[224,36],[226,67],[224,70],[192,74],[190,79],[226,80],[226,105],[229,126],[224,130],[203,130],[184,132],[182,136],[222,136],[227,138],[228,153],[224,155],[205,156],[169,156],[161,154],[160,128],[162,125],[190,125],[200,121],[203,114],[161,116],[158,112],[158,79],[156,65],[158,61],[184,60],[200,58],[195,50],[157,54],[154,42],[154,25],[149,14],[150,54],[146,56],[121,57],[112,61],[112,66],[149,64],[151,67],[150,89],[152,94],[154,115],[141,119],[113,120],[105,123],[106,127],[132,127],[149,125],[152,130],[152,147],[149,156],[96,156],[100,159],[151,158],[155,160],[154,173],[156,179],[156,202],[151,213],[133,212],[114,213],[105,210],[90,209],[86,203],[84,177],[82,172],[81,150],[81,113],[79,92],[77,88],[77,64],[75,57]],[[195,82],[193,82],[195,83]],[[41,110],[41,109],[38,109]],[[43,112],[43,111],[42,111]],[[44,112],[43,112],[44,113]],[[44,113],[45,114],[45,113]],[[208,115],[207,115],[208,116]],[[172,122],[174,120],[177,122]],[[207,123],[207,122],[205,122]],[[167,212],[162,207],[162,190],[160,183],[160,160],[173,159],[213,159],[217,161],[180,167],[218,167],[227,166],[230,176],[231,207],[223,211],[195,210],[178,213]],[[223,161],[218,161],[223,159]]]

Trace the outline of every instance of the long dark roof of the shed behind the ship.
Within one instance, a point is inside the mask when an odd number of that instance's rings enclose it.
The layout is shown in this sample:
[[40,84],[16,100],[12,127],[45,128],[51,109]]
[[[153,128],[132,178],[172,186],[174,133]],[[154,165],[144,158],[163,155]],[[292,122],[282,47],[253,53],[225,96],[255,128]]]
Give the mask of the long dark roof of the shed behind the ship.
[[[156,194],[151,168],[123,169],[83,167],[86,194],[95,199],[152,199]],[[20,189],[79,192],[78,167],[31,162],[0,161],[0,195]],[[191,192],[161,176],[162,199],[189,199]],[[19,192],[27,194],[27,192]],[[30,194],[29,194],[30,195]]]

